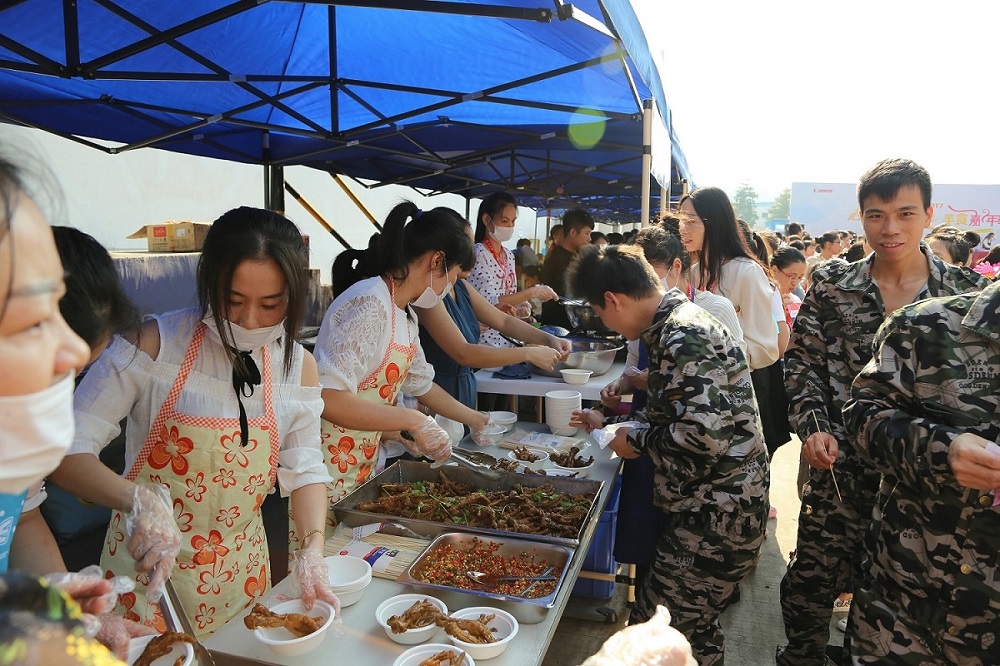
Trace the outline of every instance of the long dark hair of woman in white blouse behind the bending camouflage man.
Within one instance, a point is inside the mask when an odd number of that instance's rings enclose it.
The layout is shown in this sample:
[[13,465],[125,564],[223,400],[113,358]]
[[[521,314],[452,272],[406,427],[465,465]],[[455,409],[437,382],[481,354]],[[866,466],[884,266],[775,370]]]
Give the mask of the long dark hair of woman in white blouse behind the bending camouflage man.
[[[695,285],[699,291],[711,291],[719,283],[722,265],[727,261],[744,257],[760,264],[736,224],[736,212],[724,191],[718,187],[699,187],[683,196],[680,203],[687,200],[705,224],[705,239],[698,258],[701,283]],[[766,272],[766,266],[761,264],[761,267]]]

